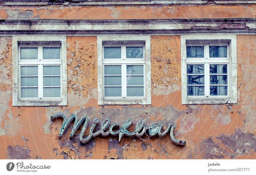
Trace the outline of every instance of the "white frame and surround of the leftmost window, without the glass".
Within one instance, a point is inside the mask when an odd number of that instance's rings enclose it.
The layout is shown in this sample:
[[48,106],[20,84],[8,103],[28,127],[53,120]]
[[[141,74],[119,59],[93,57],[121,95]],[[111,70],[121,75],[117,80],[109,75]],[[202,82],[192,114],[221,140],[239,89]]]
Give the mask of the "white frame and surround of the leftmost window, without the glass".
[[[32,44],[21,44],[18,42],[29,41]],[[60,41],[61,45],[56,44],[33,44],[40,41]],[[66,37],[65,36],[13,36],[12,38],[12,106],[66,106],[67,105],[67,59],[66,59]],[[43,47],[59,47],[60,59],[43,59]],[[37,47],[37,60],[21,60],[20,47]],[[21,98],[20,67],[38,66],[38,98]],[[43,66],[60,66],[60,97],[43,97]]]

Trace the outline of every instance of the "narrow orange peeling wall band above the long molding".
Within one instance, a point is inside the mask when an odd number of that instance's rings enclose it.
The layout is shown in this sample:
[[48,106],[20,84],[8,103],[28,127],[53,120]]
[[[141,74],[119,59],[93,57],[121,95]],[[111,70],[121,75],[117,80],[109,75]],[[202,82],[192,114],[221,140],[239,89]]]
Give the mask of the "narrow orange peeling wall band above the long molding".
[[103,20],[255,18],[255,5],[116,5],[116,6],[15,6],[0,7],[1,20]]

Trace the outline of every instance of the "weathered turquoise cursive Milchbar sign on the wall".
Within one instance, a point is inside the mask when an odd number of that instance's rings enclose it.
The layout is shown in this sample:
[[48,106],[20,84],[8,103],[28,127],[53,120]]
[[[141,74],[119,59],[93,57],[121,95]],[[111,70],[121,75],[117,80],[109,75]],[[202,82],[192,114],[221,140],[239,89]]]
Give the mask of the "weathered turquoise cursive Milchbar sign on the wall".
[[95,127],[97,125],[99,125],[99,119],[98,118],[94,118],[93,119],[93,124],[90,128],[89,131],[89,135],[84,137],[84,133],[85,130],[87,128],[88,122],[89,122],[89,118],[88,116],[83,116],[79,121],[78,121],[78,116],[76,114],[71,115],[68,119],[66,117],[66,115],[64,115],[63,113],[56,113],[54,115],[52,115],[51,119],[54,120],[55,118],[58,117],[62,117],[63,118],[63,123],[62,126],[60,128],[60,133],[59,133],[59,138],[62,137],[63,133],[66,131],[66,129],[68,128],[68,126],[70,125],[70,123],[75,119],[74,125],[72,127],[71,133],[69,135],[70,138],[73,138],[77,129],[79,128],[80,125],[83,125],[83,128],[81,130],[79,139],[82,143],[87,143],[88,141],[90,141],[90,139],[92,139],[92,137],[97,137],[100,134],[103,137],[112,135],[112,136],[117,136],[119,135],[119,142],[122,139],[123,136],[127,136],[127,137],[133,137],[136,136],[138,138],[141,138],[146,132],[148,133],[148,135],[150,137],[154,137],[156,136],[156,134],[159,137],[163,137],[165,136],[169,131],[170,131],[170,139],[173,143],[177,144],[177,145],[185,145],[186,141],[182,141],[182,140],[178,140],[175,139],[173,136],[173,130],[175,125],[172,123],[169,123],[166,130],[163,130],[163,126],[164,124],[158,124],[158,123],[154,123],[151,126],[147,126],[145,125],[144,120],[140,120],[136,126],[135,126],[135,130],[134,132],[129,132],[127,129],[131,126],[132,124],[132,119],[129,118],[127,120],[124,121],[124,123],[122,124],[121,128],[117,131],[113,131],[113,129],[118,129],[119,128],[119,124],[118,123],[113,123],[110,125],[110,119],[107,118],[105,119],[100,126],[100,130],[99,131],[94,131]]

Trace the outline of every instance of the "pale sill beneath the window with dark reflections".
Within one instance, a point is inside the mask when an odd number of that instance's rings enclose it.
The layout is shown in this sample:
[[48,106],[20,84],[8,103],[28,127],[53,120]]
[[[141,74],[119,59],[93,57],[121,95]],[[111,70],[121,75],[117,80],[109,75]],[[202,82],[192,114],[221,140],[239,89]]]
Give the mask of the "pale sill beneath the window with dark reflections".
[[192,104],[235,104],[236,101],[230,98],[205,98],[205,99],[189,99],[187,98],[186,101],[182,105],[192,105]]

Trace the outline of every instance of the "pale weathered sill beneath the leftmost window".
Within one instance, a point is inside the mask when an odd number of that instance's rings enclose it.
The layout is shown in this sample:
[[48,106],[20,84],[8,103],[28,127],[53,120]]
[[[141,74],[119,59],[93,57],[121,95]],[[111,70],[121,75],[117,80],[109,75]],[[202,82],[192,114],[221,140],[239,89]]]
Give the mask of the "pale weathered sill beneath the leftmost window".
[[12,106],[67,106],[65,100],[18,100]]

